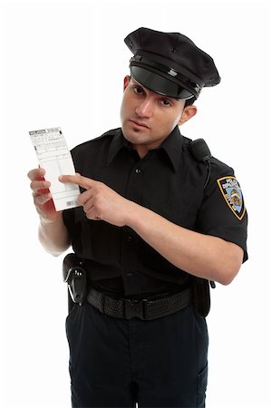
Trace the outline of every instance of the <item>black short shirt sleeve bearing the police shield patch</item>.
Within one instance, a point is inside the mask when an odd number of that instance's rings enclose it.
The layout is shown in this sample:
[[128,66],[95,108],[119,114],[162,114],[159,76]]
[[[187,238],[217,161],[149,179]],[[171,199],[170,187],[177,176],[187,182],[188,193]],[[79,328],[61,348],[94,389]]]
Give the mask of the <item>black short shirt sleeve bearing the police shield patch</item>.
[[198,211],[197,225],[198,232],[243,248],[243,262],[247,260],[247,209],[234,170],[228,167],[222,173],[215,170]]

